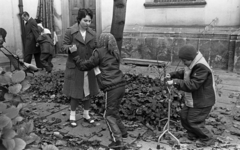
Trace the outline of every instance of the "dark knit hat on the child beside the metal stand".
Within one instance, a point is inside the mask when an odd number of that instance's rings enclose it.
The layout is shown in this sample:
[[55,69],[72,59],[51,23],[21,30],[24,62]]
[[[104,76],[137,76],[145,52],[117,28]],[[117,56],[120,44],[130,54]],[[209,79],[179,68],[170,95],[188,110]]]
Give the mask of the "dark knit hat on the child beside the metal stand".
[[193,45],[184,45],[178,51],[178,57],[180,59],[193,60],[197,56],[197,50]]

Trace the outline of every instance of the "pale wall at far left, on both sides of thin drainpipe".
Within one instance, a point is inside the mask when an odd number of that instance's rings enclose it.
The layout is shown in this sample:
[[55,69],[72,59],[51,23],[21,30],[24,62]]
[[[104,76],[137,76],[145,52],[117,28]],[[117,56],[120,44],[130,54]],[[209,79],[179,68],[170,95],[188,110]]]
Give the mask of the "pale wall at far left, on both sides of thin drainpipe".
[[[7,31],[4,46],[15,53],[17,49],[22,50],[21,26],[18,0],[0,0],[0,27]],[[33,18],[36,17],[38,0],[23,0],[23,10],[27,11]],[[2,56],[2,54],[0,54]]]

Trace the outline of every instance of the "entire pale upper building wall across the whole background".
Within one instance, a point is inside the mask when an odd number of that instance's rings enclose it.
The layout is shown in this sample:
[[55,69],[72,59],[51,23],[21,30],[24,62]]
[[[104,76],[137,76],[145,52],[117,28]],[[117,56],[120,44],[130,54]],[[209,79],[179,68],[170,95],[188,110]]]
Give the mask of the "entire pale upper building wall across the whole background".
[[[213,19],[218,18],[217,26],[239,26],[240,25],[240,1],[239,0],[206,0],[204,7],[151,7],[146,8],[144,3],[153,0],[128,0],[126,12],[126,26],[133,26],[136,31],[138,26],[204,26]],[[4,45],[12,52],[22,50],[21,29],[19,21],[18,0],[0,0],[0,27],[7,30],[7,38]],[[62,40],[66,28],[69,26],[68,0],[54,0],[58,27],[57,35]],[[29,12],[35,18],[38,0],[23,0],[23,10]],[[97,29],[109,29],[112,22],[113,0],[96,0]],[[138,31],[138,30],[137,30]],[[0,53],[0,57],[2,54]]]

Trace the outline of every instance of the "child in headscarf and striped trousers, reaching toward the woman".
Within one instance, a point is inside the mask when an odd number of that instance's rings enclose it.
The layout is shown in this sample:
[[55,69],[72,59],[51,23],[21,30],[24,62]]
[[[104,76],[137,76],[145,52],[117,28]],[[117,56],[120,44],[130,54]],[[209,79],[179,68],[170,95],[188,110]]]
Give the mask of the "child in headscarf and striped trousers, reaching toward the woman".
[[76,51],[70,49],[73,60],[80,70],[94,68],[99,88],[105,93],[104,119],[111,135],[109,148],[123,147],[123,138],[128,137],[119,114],[119,108],[125,94],[125,79],[120,70],[120,54],[117,42],[110,33],[102,33],[98,48],[88,60],[81,59]]

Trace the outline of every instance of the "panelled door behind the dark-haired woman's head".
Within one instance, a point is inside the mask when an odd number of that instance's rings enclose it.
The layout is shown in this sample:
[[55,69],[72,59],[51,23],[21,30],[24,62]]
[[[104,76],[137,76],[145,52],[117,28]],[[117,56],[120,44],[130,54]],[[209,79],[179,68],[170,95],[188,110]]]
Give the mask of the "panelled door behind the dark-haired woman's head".
[[95,0],[69,0],[70,25],[77,22],[79,8],[90,8],[93,11],[91,28],[96,31],[96,1]]

